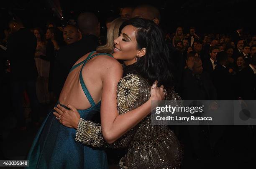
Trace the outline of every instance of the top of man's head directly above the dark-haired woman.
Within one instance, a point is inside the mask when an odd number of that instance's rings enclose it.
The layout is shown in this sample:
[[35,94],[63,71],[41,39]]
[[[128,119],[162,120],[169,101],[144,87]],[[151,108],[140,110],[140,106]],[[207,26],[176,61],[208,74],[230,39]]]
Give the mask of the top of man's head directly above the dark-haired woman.
[[153,20],[157,25],[160,22],[159,10],[151,5],[137,6],[132,13],[132,17],[140,17],[143,19]]

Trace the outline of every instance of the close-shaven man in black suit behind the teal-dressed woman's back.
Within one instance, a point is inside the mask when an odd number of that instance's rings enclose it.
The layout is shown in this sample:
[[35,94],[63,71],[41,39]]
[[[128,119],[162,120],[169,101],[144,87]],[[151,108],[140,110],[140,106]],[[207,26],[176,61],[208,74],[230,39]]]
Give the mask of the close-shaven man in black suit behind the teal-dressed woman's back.
[[98,18],[93,13],[85,12],[78,16],[77,22],[79,31],[82,33],[82,39],[61,47],[56,56],[53,82],[56,98],[59,98],[69,70],[74,63],[88,52],[95,51],[99,45],[100,23]]

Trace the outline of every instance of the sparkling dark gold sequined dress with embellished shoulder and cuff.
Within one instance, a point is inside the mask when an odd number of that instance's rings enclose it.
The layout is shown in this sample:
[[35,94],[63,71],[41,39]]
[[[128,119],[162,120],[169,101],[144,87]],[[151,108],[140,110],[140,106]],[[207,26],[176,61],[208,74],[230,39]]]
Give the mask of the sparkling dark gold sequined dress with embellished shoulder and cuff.
[[[150,98],[150,90],[151,86],[141,76],[129,74],[123,77],[118,82],[117,88],[118,113],[124,114],[145,103]],[[180,100],[173,88],[169,88],[167,93],[167,100]],[[90,122],[89,128],[92,127]],[[77,131],[81,138],[79,142],[92,146],[99,145],[102,137],[99,137],[101,133],[98,132],[100,130],[98,124],[95,128],[90,132]],[[115,143],[103,143],[103,145],[110,148],[128,148],[127,154],[120,160],[122,169],[179,169],[183,157],[175,134],[168,126],[152,126],[151,114]]]

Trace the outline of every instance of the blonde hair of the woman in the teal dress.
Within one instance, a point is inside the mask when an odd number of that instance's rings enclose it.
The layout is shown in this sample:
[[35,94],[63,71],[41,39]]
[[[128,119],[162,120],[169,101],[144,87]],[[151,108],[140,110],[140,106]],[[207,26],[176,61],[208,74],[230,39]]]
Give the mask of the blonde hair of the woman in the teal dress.
[[107,43],[106,45],[97,47],[96,51],[98,53],[110,53],[110,54],[113,53],[114,40],[118,38],[119,28],[125,20],[127,19],[118,17],[115,20],[113,20],[113,22],[111,22],[111,25],[108,29],[108,34],[107,34]]

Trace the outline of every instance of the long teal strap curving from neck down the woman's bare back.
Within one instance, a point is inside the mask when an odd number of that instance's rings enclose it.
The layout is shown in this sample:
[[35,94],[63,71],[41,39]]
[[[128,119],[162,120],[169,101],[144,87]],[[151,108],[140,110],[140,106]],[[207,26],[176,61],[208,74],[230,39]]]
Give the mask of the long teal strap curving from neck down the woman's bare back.
[[[108,56],[110,56],[110,57],[113,57],[112,55],[110,55],[110,54],[108,54],[108,53],[97,53],[97,54],[95,54],[95,55],[90,56],[90,58],[88,57],[88,59],[86,59],[86,60],[83,62],[83,64],[85,65],[85,64],[87,63],[87,61],[90,60],[92,57],[99,56],[99,55],[108,55]],[[81,65],[81,64],[80,64],[80,65]],[[88,91],[88,89],[87,89],[87,87],[86,87],[86,85],[85,85],[85,83],[84,83],[84,79],[83,79],[83,77],[82,77],[82,69],[83,69],[84,65],[82,66],[82,68],[81,68],[81,70],[80,70],[80,73],[79,73],[79,81],[80,81],[80,84],[81,84],[81,86],[82,86],[82,89],[83,89],[83,91],[84,91],[85,96],[87,97],[87,99],[89,100],[91,106],[93,107],[93,106],[95,106],[96,104],[95,104],[94,100],[92,99],[92,96],[91,96],[90,92]]]

